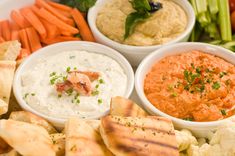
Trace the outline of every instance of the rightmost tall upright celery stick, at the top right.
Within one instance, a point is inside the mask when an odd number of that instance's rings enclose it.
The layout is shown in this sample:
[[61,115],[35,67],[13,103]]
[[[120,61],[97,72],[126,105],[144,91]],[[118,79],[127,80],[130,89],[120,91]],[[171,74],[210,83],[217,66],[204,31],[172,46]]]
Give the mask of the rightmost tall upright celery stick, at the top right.
[[232,30],[230,22],[230,11],[228,0],[218,0],[219,6],[219,25],[222,40],[232,40]]

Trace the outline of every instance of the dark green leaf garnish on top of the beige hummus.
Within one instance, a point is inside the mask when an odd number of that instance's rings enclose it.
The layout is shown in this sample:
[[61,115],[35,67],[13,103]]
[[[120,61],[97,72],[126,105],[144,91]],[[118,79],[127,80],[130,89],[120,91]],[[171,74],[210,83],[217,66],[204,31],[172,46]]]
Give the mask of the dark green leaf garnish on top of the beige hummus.
[[161,3],[153,3],[151,0],[129,0],[129,2],[136,11],[130,13],[126,18],[124,39],[133,33],[137,24],[145,21],[151,16],[151,13],[162,8]]

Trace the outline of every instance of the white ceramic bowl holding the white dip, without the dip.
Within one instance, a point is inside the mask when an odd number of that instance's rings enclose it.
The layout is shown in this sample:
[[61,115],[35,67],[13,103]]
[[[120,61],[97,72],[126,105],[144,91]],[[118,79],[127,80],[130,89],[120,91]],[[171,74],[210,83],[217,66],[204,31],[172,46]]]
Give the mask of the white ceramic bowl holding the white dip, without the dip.
[[[124,96],[128,98],[131,95],[132,90],[134,88],[134,72],[129,62],[120,53],[104,45],[92,43],[92,42],[84,42],[84,41],[71,41],[71,42],[53,44],[53,45],[50,45],[50,46],[47,46],[45,48],[38,50],[37,52],[33,53],[30,57],[28,57],[18,67],[16,74],[15,74],[14,82],[13,82],[14,95],[18,103],[24,110],[27,110],[29,112],[32,112],[36,115],[39,115],[47,119],[58,128],[62,128],[64,126],[65,119],[50,117],[46,114],[38,112],[37,110],[31,108],[28,104],[26,104],[26,102],[22,98],[23,96],[21,92],[21,88],[22,88],[21,75],[28,69],[31,69],[35,65],[36,60],[40,58],[45,58],[47,56],[51,56],[53,54],[57,54],[63,51],[67,51],[67,50],[85,50],[88,52],[99,53],[99,54],[103,54],[103,55],[113,58],[121,65],[121,67],[123,68],[124,72],[127,75],[128,82],[127,82],[127,88],[126,88],[126,92]],[[94,118],[98,119],[99,117],[106,115],[108,112],[109,111],[106,111],[104,114],[94,117]]]

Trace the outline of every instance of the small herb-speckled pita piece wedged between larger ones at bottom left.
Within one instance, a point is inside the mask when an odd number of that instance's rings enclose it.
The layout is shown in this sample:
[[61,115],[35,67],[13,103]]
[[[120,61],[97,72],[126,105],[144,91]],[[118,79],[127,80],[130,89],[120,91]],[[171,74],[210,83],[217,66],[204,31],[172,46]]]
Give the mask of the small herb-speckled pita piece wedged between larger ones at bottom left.
[[65,134],[63,133],[54,133],[50,135],[54,150],[56,151],[56,156],[65,155]]

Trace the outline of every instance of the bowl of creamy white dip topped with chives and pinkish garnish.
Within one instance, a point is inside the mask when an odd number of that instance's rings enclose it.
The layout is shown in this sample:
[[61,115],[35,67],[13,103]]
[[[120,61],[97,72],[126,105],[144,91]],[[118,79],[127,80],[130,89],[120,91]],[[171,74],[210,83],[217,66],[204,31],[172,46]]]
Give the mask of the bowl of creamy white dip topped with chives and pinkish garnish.
[[91,42],[64,42],[33,53],[17,69],[13,90],[20,106],[56,127],[69,117],[98,119],[113,96],[129,97],[134,73],[117,51]]

